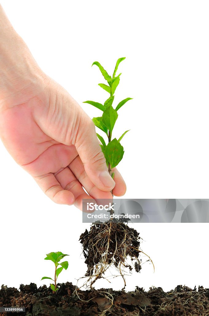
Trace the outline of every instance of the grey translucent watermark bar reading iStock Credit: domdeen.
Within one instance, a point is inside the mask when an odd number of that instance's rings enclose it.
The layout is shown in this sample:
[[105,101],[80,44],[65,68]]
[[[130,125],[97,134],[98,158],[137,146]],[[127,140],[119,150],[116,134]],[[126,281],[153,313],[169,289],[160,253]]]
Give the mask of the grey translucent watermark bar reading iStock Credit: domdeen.
[[83,223],[208,223],[209,199],[83,199]]

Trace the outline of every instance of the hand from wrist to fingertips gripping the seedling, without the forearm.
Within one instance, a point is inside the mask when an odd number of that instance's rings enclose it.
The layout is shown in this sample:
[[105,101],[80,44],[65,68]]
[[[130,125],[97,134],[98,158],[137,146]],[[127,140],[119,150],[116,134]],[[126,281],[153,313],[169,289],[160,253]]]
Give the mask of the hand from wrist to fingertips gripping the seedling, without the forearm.
[[83,198],[111,198],[112,189],[123,195],[125,183],[116,169],[115,182],[110,177],[94,124],[77,102],[47,76],[30,91],[20,104],[8,97],[0,112],[0,135],[14,160],[56,203],[82,209]]

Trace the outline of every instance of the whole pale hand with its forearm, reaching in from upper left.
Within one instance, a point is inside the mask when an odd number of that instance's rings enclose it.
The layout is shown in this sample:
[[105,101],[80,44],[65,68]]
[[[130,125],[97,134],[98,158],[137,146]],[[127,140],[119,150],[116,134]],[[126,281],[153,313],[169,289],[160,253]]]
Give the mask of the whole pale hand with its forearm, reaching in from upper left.
[[[121,196],[110,177],[92,120],[38,67],[0,5],[0,137],[14,160],[54,202]],[[88,194],[84,191],[84,189]]]

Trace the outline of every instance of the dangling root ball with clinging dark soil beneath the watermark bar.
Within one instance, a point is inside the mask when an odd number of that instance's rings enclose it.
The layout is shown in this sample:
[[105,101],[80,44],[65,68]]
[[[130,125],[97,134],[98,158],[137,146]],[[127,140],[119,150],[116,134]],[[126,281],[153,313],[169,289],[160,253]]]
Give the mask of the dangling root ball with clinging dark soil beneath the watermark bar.
[[[92,225],[89,232],[86,229],[80,236],[85,263],[88,266],[85,275],[88,279],[84,285],[90,284],[90,288],[93,289],[96,280],[103,278],[105,271],[113,264],[123,278],[124,289],[126,268],[130,272],[133,268],[136,272],[141,270],[139,256],[144,252],[140,249],[139,240],[139,233],[124,223],[106,222]],[[128,258],[131,259],[133,267],[127,263]],[[149,256],[148,258],[150,259]],[[151,259],[150,261],[152,262]]]

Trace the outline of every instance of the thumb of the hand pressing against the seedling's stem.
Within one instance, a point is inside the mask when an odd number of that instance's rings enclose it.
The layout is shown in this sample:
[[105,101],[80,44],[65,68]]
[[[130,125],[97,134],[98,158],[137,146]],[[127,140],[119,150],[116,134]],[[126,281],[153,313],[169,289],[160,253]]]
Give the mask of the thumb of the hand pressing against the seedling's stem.
[[75,146],[89,179],[100,190],[111,191],[115,186],[115,181],[108,172],[95,126],[85,112],[82,113]]

